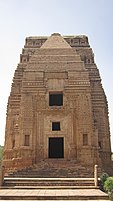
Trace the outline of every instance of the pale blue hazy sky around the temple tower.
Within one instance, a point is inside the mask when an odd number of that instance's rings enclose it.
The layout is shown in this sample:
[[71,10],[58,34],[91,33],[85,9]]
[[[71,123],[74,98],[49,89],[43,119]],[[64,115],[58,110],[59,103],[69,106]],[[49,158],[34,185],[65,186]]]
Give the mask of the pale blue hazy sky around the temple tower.
[[0,0],[0,144],[25,38],[54,32],[89,37],[108,99],[113,150],[113,0]]

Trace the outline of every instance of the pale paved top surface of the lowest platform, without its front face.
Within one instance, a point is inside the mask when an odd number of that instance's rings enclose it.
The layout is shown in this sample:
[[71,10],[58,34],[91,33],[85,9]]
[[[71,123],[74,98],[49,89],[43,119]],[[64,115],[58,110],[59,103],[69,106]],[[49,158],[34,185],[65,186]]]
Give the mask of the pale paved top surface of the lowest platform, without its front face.
[[0,196],[105,196],[99,189],[0,189]]

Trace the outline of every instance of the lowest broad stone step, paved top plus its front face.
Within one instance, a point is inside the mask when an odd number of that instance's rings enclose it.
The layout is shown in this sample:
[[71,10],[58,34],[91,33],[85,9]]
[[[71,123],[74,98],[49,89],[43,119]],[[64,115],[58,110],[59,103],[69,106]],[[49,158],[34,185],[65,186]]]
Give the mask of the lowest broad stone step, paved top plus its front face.
[[0,200],[108,200],[108,195],[96,189],[63,190],[0,190]]

